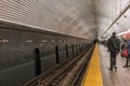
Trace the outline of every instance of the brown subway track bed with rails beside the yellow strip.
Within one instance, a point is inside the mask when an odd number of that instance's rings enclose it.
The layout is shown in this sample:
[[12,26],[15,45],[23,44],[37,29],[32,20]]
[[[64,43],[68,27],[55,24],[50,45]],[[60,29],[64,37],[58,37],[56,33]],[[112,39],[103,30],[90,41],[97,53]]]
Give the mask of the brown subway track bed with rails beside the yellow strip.
[[80,86],[93,47],[88,47],[75,58],[57,64],[23,86]]

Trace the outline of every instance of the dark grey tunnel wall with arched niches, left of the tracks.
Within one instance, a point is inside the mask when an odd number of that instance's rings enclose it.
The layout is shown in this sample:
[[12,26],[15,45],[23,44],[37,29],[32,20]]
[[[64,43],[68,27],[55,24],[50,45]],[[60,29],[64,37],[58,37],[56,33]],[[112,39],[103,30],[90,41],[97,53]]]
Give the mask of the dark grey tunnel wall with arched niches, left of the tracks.
[[0,86],[21,86],[35,77],[35,48],[40,51],[41,72],[56,64],[55,46],[58,46],[60,62],[76,54],[76,44],[89,44],[86,39],[74,38],[37,28],[11,23],[0,23]]

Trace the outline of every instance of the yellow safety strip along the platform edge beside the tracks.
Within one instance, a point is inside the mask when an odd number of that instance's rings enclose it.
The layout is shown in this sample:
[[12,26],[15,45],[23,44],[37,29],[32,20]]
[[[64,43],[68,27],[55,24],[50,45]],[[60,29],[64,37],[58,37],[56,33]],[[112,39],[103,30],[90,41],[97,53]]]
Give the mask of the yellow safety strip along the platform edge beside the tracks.
[[95,45],[89,69],[86,71],[81,86],[103,86],[98,44]]

